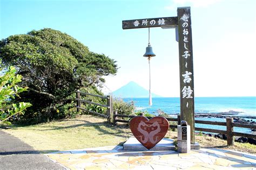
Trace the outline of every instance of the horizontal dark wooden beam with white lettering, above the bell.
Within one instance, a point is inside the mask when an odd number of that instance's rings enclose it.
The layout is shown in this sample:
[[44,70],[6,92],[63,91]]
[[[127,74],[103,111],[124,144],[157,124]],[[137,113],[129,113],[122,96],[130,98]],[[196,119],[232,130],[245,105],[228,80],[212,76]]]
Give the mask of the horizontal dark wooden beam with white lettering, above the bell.
[[123,21],[124,30],[174,25],[178,25],[178,17],[132,19]]

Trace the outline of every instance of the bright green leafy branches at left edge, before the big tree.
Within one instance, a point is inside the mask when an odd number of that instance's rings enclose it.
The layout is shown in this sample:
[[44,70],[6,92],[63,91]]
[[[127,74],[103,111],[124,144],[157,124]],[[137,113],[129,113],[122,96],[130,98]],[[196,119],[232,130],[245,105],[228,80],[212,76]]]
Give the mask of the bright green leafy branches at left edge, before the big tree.
[[23,114],[25,109],[31,106],[30,103],[14,103],[13,99],[19,97],[19,93],[26,91],[26,88],[17,85],[17,83],[21,82],[22,76],[15,75],[15,72],[15,68],[10,66],[0,76],[0,124],[11,124],[8,121],[10,118],[17,114]]

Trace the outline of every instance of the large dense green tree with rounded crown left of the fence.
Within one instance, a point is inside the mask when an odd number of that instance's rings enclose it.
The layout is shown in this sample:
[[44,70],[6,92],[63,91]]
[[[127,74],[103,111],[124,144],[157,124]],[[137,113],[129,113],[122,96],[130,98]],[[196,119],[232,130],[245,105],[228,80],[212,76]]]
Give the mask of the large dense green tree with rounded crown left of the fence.
[[33,105],[26,115],[36,122],[58,116],[57,107],[70,103],[75,90],[100,86],[103,76],[117,72],[116,61],[53,29],[2,39],[0,58],[23,76],[21,85],[28,86],[23,100]]

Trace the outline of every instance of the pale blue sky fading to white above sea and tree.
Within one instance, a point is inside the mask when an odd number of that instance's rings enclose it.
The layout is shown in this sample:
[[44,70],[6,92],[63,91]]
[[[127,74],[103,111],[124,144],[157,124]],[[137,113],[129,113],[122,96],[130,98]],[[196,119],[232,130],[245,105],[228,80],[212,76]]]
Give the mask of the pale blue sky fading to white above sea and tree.
[[[1,2],[0,38],[52,28],[76,38],[93,52],[117,60],[116,76],[106,77],[114,91],[135,81],[149,89],[143,57],[147,29],[123,30],[128,19],[177,16],[178,6],[191,6],[194,95],[256,96],[256,1],[12,1]],[[151,29],[152,92],[179,97],[178,43],[174,29]]]

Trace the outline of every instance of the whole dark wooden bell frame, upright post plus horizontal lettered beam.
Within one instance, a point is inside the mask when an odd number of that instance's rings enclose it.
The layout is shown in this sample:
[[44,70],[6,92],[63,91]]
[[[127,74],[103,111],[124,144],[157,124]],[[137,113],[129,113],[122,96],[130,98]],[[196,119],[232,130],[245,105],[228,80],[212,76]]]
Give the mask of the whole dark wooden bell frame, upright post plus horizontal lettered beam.
[[132,19],[123,21],[123,29],[175,28],[178,26],[180,70],[180,115],[191,127],[194,144],[194,72],[190,7],[177,9],[178,17]]

